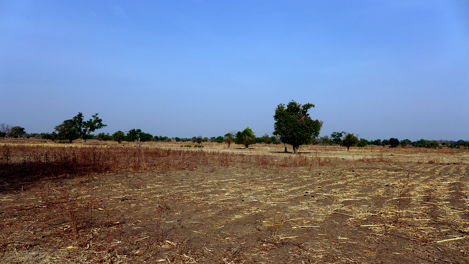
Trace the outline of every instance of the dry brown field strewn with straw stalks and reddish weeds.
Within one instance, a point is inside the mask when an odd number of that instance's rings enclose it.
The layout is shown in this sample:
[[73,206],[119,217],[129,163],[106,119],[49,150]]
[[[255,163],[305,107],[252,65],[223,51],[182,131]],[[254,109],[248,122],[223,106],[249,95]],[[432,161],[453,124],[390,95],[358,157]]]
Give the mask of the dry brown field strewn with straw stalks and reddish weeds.
[[468,150],[181,144],[0,143],[0,263],[469,263]]

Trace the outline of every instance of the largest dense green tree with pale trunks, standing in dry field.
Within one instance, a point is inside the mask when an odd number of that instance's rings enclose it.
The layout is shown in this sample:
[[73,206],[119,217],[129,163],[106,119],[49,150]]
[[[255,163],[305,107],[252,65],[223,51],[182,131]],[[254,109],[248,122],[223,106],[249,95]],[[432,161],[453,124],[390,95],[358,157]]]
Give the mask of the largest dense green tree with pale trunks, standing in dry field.
[[310,118],[308,110],[311,107],[314,105],[300,105],[292,100],[287,107],[280,104],[275,109],[273,134],[279,136],[280,141],[285,144],[285,152],[287,144],[293,146],[293,152],[297,152],[301,145],[311,142],[311,137],[319,136],[323,122]]

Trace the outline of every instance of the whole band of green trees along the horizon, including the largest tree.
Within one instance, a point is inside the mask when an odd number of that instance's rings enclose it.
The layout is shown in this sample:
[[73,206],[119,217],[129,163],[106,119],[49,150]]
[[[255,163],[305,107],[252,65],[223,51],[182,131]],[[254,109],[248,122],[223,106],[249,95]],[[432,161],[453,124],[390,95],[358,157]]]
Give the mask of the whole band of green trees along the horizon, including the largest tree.
[[86,145],[86,140],[96,139],[99,141],[117,141],[121,143],[126,142],[136,142],[138,146],[141,143],[148,141],[155,142],[192,142],[201,144],[203,142],[213,142],[213,143],[226,143],[228,147],[232,143],[244,145],[245,148],[248,148],[249,145],[256,143],[265,143],[265,144],[280,144],[285,145],[285,152],[287,152],[287,144],[293,146],[293,152],[296,152],[301,145],[304,144],[322,144],[327,145],[337,145],[347,147],[347,150],[352,146],[365,147],[368,145],[376,146],[389,146],[392,148],[396,147],[406,147],[413,146],[419,148],[442,148],[444,146],[449,148],[469,148],[469,141],[458,140],[458,141],[435,141],[435,140],[425,140],[420,139],[418,141],[410,141],[404,139],[399,141],[397,138],[390,139],[376,139],[376,140],[366,140],[364,138],[359,138],[358,134],[348,133],[345,131],[333,132],[330,136],[319,136],[319,131],[322,127],[323,122],[318,120],[312,120],[308,113],[310,108],[313,108],[314,105],[308,104],[298,104],[295,101],[291,101],[285,106],[280,104],[275,109],[274,120],[274,131],[273,136],[264,134],[264,136],[257,137],[254,132],[248,127],[242,131],[230,131],[224,136],[212,136],[202,137],[202,136],[193,136],[191,138],[179,138],[168,136],[153,136],[150,133],[145,133],[141,129],[130,129],[129,131],[116,131],[112,135],[109,133],[99,133],[93,135],[97,129],[104,128],[107,125],[103,124],[102,119],[98,117],[98,113],[92,115],[92,118],[85,121],[83,113],[78,113],[72,119],[68,119],[62,122],[62,124],[55,127],[55,131],[52,133],[31,133],[27,134],[25,129],[20,126],[11,126],[5,123],[0,124],[0,139],[4,140],[9,138],[11,141],[13,138],[38,138],[45,140],[59,140],[59,143],[71,143],[76,139],[81,139],[83,145]]

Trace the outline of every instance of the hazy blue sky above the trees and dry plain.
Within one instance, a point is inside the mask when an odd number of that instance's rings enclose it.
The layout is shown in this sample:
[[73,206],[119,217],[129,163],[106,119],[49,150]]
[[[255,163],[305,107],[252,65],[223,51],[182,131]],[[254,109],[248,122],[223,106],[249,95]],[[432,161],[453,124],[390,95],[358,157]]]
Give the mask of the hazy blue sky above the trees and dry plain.
[[0,1],[0,123],[52,132],[273,131],[469,140],[468,1]]

